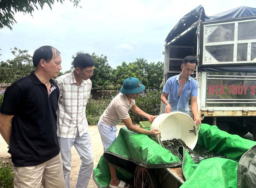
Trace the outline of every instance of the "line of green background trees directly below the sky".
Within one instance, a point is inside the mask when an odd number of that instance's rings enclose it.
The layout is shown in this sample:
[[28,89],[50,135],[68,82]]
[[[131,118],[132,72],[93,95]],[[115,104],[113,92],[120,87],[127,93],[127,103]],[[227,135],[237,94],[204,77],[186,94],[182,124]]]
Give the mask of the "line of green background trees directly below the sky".
[[[27,54],[27,50],[21,50],[14,47],[11,49],[11,53],[15,57],[13,60],[0,62],[0,82],[13,83],[35,70],[32,64],[32,57]],[[75,56],[76,55],[73,55],[72,58]],[[129,64],[122,62],[121,66],[117,66],[116,69],[113,69],[109,66],[106,56],[99,56],[95,53],[91,56],[95,61],[95,70],[91,77],[93,88],[121,88],[122,82],[128,77],[138,78],[147,89],[162,87],[162,62],[147,63],[147,60],[139,58],[135,62]],[[71,62],[71,68],[64,73],[59,72],[58,76],[73,70],[73,62]]]

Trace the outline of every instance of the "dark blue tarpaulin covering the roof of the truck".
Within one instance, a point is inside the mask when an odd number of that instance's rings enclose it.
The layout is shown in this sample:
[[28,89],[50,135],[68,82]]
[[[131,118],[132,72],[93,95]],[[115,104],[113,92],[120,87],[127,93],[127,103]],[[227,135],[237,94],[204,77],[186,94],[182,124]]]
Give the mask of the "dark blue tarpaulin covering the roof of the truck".
[[173,29],[168,34],[165,42],[168,43],[173,40],[175,37],[186,31],[186,29],[191,27],[199,19],[207,22],[212,20],[239,18],[254,15],[256,15],[256,8],[240,6],[228,11],[217,13],[213,16],[207,16],[204,13],[204,7],[202,5],[199,5],[180,19],[180,21],[173,27]]

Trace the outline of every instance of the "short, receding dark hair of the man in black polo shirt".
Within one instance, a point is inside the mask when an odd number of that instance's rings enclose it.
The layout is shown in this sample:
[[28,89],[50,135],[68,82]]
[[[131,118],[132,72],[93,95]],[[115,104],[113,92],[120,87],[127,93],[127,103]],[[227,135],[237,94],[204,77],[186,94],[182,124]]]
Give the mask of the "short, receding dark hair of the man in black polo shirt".
[[46,62],[50,62],[52,58],[57,57],[60,54],[58,49],[52,47],[52,46],[41,46],[38,49],[35,50],[33,55],[33,66],[37,67],[40,60],[44,59]]

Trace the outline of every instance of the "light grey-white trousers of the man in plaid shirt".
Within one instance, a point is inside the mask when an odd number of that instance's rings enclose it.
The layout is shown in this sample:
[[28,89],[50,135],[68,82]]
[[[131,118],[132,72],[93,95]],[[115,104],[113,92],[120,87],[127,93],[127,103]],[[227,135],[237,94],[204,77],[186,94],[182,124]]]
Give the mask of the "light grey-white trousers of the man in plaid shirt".
[[63,173],[66,188],[70,188],[70,171],[71,171],[71,148],[74,145],[76,151],[80,155],[82,161],[78,173],[76,188],[86,188],[91,174],[93,172],[93,150],[91,145],[91,137],[88,133],[84,133],[81,137],[76,133],[76,138],[67,139],[58,137],[61,157],[63,161]]

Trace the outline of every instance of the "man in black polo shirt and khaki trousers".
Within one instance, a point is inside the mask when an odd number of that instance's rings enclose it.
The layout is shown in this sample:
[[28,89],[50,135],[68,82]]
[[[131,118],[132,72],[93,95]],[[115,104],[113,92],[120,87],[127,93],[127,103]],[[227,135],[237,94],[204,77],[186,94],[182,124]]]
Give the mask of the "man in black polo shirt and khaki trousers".
[[51,78],[61,70],[61,56],[51,46],[33,55],[35,71],[9,86],[0,109],[0,133],[14,164],[14,188],[63,188],[57,139],[59,88]]

